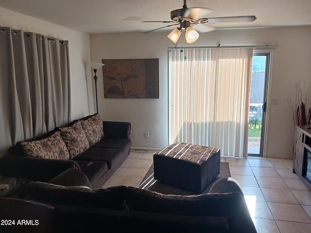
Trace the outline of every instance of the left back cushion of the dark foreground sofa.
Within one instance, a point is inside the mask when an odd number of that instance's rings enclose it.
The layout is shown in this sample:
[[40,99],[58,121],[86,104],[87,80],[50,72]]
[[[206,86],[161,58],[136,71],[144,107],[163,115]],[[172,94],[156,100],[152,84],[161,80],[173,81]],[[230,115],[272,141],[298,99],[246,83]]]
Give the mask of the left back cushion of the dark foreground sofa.
[[30,181],[26,185],[26,192],[31,200],[70,206],[87,206],[124,209],[124,195],[126,186],[89,189],[86,187],[56,185]]

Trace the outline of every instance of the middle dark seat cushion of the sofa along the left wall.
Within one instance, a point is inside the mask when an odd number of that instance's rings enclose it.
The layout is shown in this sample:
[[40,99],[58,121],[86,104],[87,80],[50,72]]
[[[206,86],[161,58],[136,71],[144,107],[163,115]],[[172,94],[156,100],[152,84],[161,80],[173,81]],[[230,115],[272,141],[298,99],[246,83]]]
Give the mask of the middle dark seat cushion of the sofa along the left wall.
[[[124,158],[123,151],[121,149],[105,149],[90,147],[82,154],[74,157],[75,161],[104,161],[107,163],[108,168],[115,167],[120,160]],[[78,162],[79,164],[79,162]],[[80,165],[80,164],[79,164]]]

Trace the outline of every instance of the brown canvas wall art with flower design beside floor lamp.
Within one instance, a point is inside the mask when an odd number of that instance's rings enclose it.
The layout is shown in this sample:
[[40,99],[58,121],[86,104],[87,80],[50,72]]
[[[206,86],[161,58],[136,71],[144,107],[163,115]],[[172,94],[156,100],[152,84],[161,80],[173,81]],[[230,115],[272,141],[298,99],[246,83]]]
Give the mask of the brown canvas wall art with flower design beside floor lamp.
[[103,59],[104,98],[158,99],[159,59]]

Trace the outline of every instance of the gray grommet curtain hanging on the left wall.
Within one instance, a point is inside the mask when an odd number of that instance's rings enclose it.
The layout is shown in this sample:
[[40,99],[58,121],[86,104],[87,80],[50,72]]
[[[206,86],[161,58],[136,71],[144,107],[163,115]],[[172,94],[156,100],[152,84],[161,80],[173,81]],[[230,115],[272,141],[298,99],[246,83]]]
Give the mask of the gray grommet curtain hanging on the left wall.
[[70,119],[68,41],[0,27],[0,157]]

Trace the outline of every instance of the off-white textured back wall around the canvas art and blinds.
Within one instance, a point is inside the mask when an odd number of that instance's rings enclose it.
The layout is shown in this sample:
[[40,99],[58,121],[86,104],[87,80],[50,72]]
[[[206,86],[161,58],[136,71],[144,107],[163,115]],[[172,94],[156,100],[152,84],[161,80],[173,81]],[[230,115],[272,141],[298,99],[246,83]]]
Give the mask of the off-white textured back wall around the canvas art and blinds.
[[[155,33],[92,34],[91,60],[159,58],[160,99],[104,99],[103,73],[98,72],[99,113],[105,120],[132,123],[133,147],[163,148],[168,145],[168,47],[175,46],[166,35]],[[183,36],[183,35],[182,35]],[[295,98],[295,83],[311,85],[311,27],[282,27],[244,30],[215,30],[200,33],[191,46],[247,46],[278,44],[274,49],[268,102],[266,155],[292,157],[294,123],[287,98]],[[176,45],[190,46],[180,39]],[[145,138],[144,132],[150,137]]]

